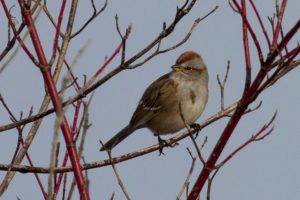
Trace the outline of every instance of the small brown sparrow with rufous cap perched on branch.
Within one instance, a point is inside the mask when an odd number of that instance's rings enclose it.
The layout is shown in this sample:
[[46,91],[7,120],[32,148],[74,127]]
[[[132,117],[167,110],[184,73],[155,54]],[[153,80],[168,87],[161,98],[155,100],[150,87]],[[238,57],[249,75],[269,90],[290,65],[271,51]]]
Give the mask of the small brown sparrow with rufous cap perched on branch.
[[194,51],[182,53],[171,71],[145,90],[129,124],[102,145],[110,151],[137,129],[148,128],[157,136],[176,133],[192,126],[208,101],[208,71]]

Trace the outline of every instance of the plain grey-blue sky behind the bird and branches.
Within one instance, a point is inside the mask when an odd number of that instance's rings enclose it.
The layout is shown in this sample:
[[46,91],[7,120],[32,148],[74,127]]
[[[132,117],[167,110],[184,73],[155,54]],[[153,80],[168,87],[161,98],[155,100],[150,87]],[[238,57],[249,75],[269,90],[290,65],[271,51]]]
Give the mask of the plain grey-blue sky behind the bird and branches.
[[[57,2],[48,2],[49,10],[57,16],[59,12]],[[98,1],[100,6],[103,1]],[[102,65],[106,56],[112,54],[120,43],[120,38],[115,28],[115,15],[119,16],[121,30],[131,24],[132,33],[127,43],[127,58],[144,48],[161,31],[165,21],[167,25],[173,20],[176,6],[184,1],[180,0],[111,0],[104,13],[94,20],[81,35],[71,41],[67,60],[71,63],[78,50],[90,41],[88,49],[82,55],[76,65],[74,74],[80,83],[83,75],[91,76]],[[254,1],[267,24],[270,33],[270,25],[267,16],[274,13],[274,0]],[[99,152],[99,139],[107,141],[120,129],[126,126],[130,117],[146,87],[159,76],[170,71],[176,58],[184,51],[193,50],[202,55],[209,71],[209,101],[207,107],[199,119],[199,122],[216,114],[220,110],[220,92],[216,76],[221,77],[226,71],[227,61],[230,60],[231,68],[225,91],[225,106],[237,101],[243,91],[245,77],[245,63],[242,43],[242,28],[240,16],[233,12],[227,1],[202,0],[198,1],[191,11],[176,27],[175,32],[161,45],[169,47],[180,41],[188,32],[193,21],[197,17],[204,16],[215,6],[219,9],[202,21],[194,31],[191,38],[174,51],[155,57],[142,67],[134,70],[123,71],[101,88],[96,90],[90,107],[89,129],[84,151],[86,162],[107,159],[105,152]],[[249,6],[250,8],[250,6]],[[299,0],[288,1],[286,15],[283,20],[283,29],[287,31],[299,20]],[[6,41],[7,22],[0,9],[0,37],[2,50]],[[78,6],[78,14],[74,29],[77,30],[91,15],[91,7],[85,1]],[[19,18],[19,7],[13,9],[13,15]],[[66,10],[68,13],[68,10]],[[250,12],[253,14],[253,12]],[[56,18],[55,18],[56,19]],[[65,17],[65,20],[67,17]],[[260,41],[263,41],[263,49],[266,55],[267,48],[258,22],[250,17],[255,30],[258,31]],[[37,21],[38,32],[45,46],[46,55],[51,53],[54,29],[45,18],[41,16]],[[65,27],[65,26],[64,26]],[[296,39],[300,40],[299,32]],[[251,42],[251,40],[250,40]],[[30,44],[30,43],[28,43]],[[290,45],[296,45],[296,40]],[[30,46],[30,45],[29,45]],[[251,43],[251,58],[253,64],[253,77],[259,69],[257,53]],[[299,58],[299,56],[298,56]],[[108,66],[104,73],[109,72],[118,65],[120,57]],[[0,63],[2,65],[2,63]],[[262,100],[261,108],[246,115],[226,146],[222,158],[241,145],[251,135],[255,134],[265,123],[269,121],[277,110],[273,133],[265,140],[250,144],[243,151],[230,160],[216,176],[212,192],[212,199],[298,199],[300,196],[300,123],[299,113],[300,94],[298,92],[300,70],[296,69],[281,79],[274,87],[268,89],[251,107],[258,105]],[[58,87],[61,86],[61,81]],[[34,113],[38,112],[44,96],[44,85],[39,70],[20,51],[9,67],[0,75],[0,93],[9,104],[16,116],[21,111],[28,113],[34,106]],[[74,94],[70,89],[68,95]],[[69,108],[72,114],[73,108]],[[3,106],[0,106],[0,124],[10,122]],[[69,122],[72,120],[69,115]],[[51,150],[55,116],[51,115],[44,120],[35,142],[32,144],[29,154],[36,166],[47,167]],[[203,155],[207,158],[222,133],[228,118],[224,118],[204,128],[197,142],[201,144],[208,136],[208,142],[203,149]],[[25,128],[28,133],[30,124]],[[155,144],[157,138],[147,129],[135,132],[122,142],[113,151],[113,155],[132,152],[134,150]],[[168,138],[166,136],[165,138]],[[60,136],[63,141],[62,136]],[[0,134],[0,163],[10,163],[17,142],[17,131],[11,130]],[[132,199],[175,199],[191,165],[191,158],[186,150],[189,147],[196,155],[190,139],[180,141],[175,148],[165,148],[163,156],[158,152],[129,160],[117,165],[124,181],[125,187]],[[61,150],[63,155],[64,151]],[[28,164],[24,159],[22,164]],[[190,188],[193,186],[202,166],[199,161],[191,178]],[[3,179],[6,172],[0,172]],[[70,174],[71,175],[71,174]],[[41,175],[43,184],[47,188],[47,175]],[[69,180],[71,180],[69,176]],[[115,199],[125,199],[110,166],[89,171],[91,199],[109,199],[115,191]],[[30,191],[30,192],[29,192]],[[202,196],[206,196],[205,190]],[[61,194],[61,193],[60,193]],[[6,191],[3,199],[42,199],[42,193],[32,174],[17,174]],[[77,199],[78,196],[76,195]],[[184,198],[183,198],[184,199]]]

